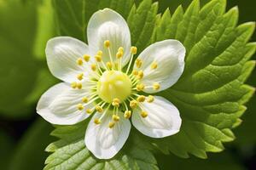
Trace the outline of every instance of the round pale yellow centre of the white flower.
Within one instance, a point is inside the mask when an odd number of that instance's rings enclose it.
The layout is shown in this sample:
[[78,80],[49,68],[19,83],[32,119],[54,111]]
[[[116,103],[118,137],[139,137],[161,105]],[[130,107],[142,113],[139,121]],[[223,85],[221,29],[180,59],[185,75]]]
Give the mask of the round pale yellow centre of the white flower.
[[113,99],[124,101],[131,95],[131,80],[122,71],[104,71],[97,82],[96,93],[99,97],[108,102]]

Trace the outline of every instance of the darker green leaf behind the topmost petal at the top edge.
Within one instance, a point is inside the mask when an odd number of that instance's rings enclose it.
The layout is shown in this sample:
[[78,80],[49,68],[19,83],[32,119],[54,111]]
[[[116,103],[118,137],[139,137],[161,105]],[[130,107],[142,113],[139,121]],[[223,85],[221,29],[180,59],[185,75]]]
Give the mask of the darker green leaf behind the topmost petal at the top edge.
[[127,17],[133,0],[54,0],[58,31],[61,36],[76,37],[87,41],[86,27],[90,16],[98,9],[113,8],[124,18]]

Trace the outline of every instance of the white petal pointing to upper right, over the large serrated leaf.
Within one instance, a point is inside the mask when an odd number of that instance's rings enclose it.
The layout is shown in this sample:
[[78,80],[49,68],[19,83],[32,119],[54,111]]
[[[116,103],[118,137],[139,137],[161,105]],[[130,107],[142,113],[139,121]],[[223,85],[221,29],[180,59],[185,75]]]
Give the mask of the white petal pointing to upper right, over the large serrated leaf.
[[[184,69],[184,57],[186,49],[181,42],[177,40],[165,40],[155,42],[148,48],[143,50],[138,59],[142,59],[143,65],[140,69],[134,65],[134,69],[143,70],[144,77],[142,83],[152,87],[154,82],[160,84],[160,89],[145,88],[146,93],[156,93],[166,88],[170,88],[178,78],[181,77]],[[151,65],[155,62],[156,69],[152,69]]]

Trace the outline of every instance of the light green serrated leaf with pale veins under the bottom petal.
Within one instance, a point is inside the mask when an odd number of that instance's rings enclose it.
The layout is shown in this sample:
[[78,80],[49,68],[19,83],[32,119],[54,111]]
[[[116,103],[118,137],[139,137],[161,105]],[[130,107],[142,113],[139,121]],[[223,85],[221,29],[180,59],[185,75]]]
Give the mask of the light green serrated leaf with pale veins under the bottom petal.
[[[84,144],[87,122],[75,126],[60,126],[52,135],[60,140],[49,144],[47,151],[54,152],[46,162],[45,170],[59,169],[158,169],[154,156],[132,143],[110,160],[98,160]],[[127,143],[130,141],[128,140]],[[131,141],[132,142],[132,141]]]

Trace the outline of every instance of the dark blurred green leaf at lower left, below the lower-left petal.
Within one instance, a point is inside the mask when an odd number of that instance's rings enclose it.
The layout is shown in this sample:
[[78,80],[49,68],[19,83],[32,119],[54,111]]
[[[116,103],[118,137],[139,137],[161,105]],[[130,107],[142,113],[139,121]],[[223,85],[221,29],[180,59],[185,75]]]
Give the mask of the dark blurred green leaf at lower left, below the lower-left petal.
[[42,169],[47,156],[44,149],[53,140],[49,136],[52,129],[43,119],[34,122],[15,148],[9,170]]

